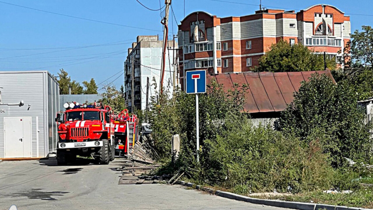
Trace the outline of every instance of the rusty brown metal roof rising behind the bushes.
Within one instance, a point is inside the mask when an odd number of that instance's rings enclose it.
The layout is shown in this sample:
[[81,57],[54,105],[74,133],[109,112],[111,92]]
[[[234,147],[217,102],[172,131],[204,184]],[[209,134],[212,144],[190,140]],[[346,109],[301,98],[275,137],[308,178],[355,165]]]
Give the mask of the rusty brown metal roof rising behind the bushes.
[[335,80],[329,70],[303,72],[240,72],[207,75],[207,83],[215,78],[223,89],[233,89],[233,84],[247,84],[244,110],[249,113],[283,111],[294,100],[302,81],[308,81],[315,72]]

